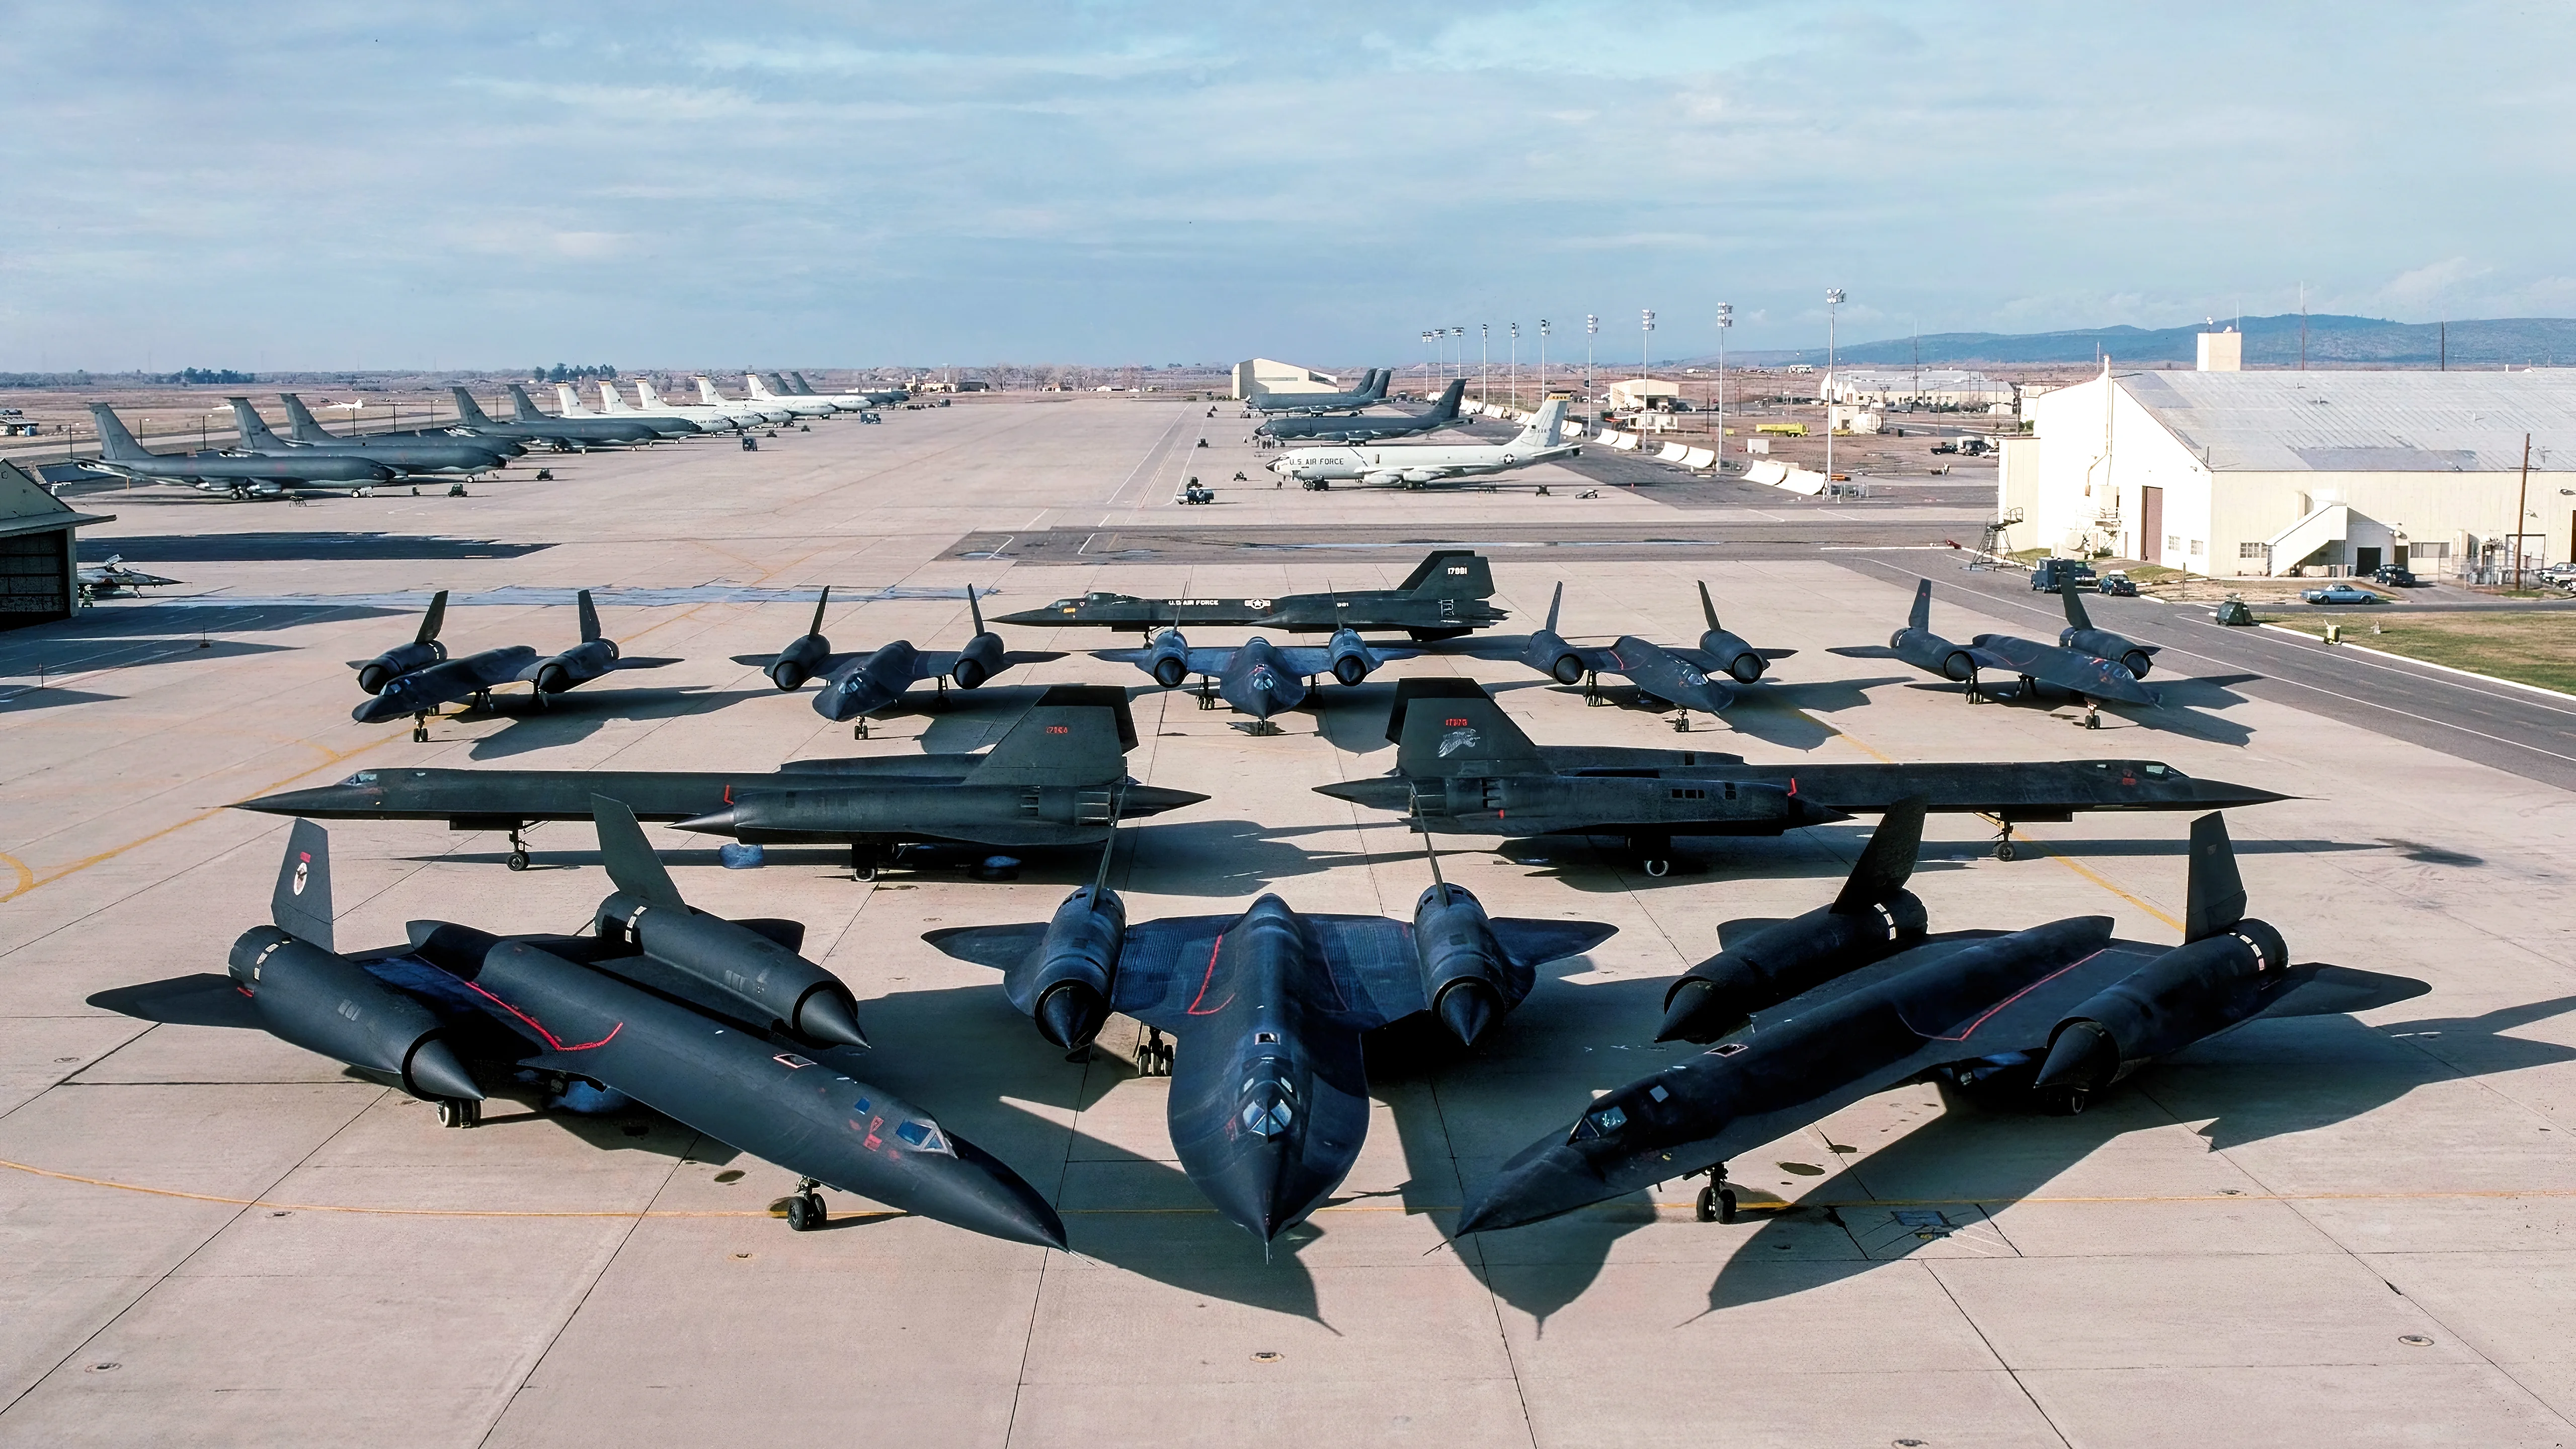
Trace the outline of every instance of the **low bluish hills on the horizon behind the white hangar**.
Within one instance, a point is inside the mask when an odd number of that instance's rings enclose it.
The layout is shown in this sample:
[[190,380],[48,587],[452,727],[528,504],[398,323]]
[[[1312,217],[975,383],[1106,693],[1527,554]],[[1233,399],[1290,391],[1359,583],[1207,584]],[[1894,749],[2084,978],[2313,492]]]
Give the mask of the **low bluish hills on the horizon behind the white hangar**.
[[[2244,317],[2246,366],[2298,366],[2298,312]],[[2221,322],[2228,325],[2228,322]],[[2190,327],[2084,327],[2074,333],[1929,333],[1837,348],[1852,366],[1906,366],[1922,345],[1924,366],[1942,364],[2112,364],[2200,361],[2200,333]],[[1824,348],[1734,353],[1749,366],[1821,364]],[[2439,322],[2388,322],[2385,317],[2308,317],[2308,366],[2439,366]],[[2555,366],[2576,364],[2576,317],[2496,317],[2450,322],[2450,366]]]

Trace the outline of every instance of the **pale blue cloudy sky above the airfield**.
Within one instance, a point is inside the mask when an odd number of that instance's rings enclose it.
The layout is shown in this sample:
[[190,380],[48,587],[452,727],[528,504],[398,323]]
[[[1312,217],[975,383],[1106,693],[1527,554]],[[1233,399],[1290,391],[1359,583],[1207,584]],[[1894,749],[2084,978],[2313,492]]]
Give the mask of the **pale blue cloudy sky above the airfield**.
[[2566,5],[0,13],[0,369],[2576,315]]

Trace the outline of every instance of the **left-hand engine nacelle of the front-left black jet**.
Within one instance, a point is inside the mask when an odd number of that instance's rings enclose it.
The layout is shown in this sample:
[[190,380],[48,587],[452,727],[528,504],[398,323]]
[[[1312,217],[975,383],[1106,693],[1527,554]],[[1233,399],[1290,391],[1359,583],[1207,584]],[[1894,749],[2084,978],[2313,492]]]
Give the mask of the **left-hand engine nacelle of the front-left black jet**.
[[270,1034],[307,1052],[402,1078],[412,1096],[482,1101],[438,1016],[348,957],[255,926],[232,944],[232,980]]

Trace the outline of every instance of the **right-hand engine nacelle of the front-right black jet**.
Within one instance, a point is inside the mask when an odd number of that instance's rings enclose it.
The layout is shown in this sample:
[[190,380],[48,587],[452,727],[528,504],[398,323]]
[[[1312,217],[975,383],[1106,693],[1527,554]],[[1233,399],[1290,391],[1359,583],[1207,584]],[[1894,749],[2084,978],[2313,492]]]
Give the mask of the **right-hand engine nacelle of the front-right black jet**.
[[2287,964],[2290,946],[2262,920],[2177,946],[2058,1021],[2032,1088],[2056,1109],[2081,1111],[2087,1096],[2141,1065],[2259,1011]]

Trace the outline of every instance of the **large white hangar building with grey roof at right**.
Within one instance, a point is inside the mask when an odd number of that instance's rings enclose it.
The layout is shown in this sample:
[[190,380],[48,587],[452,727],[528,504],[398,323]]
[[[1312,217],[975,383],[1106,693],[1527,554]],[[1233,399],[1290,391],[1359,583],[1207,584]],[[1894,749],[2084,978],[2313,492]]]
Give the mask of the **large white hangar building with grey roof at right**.
[[2105,364],[2022,407],[2032,436],[2004,443],[1996,482],[2020,547],[2218,578],[2512,570],[2517,539],[2524,567],[2576,557],[2576,371]]

